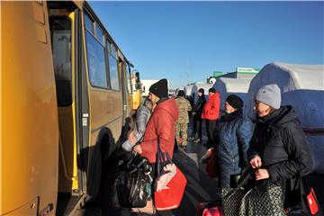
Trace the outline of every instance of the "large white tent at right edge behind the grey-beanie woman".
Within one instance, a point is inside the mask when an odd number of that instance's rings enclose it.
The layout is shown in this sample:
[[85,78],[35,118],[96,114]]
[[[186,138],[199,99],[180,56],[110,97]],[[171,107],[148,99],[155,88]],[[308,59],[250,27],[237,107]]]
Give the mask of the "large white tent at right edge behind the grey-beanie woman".
[[276,84],[282,105],[293,105],[313,152],[315,171],[324,174],[324,66],[271,63],[262,68],[248,89],[247,115],[256,116],[253,97],[260,87]]

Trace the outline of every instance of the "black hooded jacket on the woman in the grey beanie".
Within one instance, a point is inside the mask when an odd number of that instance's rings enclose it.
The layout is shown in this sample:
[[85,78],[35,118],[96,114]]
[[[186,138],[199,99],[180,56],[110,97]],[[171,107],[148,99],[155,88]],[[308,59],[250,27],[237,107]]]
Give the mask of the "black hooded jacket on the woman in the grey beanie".
[[311,150],[292,106],[282,106],[259,118],[248,149],[248,158],[259,155],[275,181],[311,173]]

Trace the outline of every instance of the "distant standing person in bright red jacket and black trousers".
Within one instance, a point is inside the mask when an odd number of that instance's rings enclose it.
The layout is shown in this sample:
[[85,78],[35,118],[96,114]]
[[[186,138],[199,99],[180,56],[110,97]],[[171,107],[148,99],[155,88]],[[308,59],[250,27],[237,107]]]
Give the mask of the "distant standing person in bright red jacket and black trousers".
[[220,93],[216,92],[214,88],[208,90],[208,101],[203,107],[202,119],[206,121],[206,130],[208,136],[207,147],[214,147],[214,136],[216,122],[220,117]]

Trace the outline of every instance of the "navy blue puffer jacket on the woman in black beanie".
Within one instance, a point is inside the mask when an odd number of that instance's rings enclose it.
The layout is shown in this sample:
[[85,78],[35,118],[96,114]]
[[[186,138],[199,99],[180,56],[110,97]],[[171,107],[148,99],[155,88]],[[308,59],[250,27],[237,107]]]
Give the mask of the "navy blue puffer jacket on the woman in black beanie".
[[230,175],[238,175],[247,166],[247,148],[253,124],[242,110],[220,117],[215,130],[215,153],[220,187],[229,187]]

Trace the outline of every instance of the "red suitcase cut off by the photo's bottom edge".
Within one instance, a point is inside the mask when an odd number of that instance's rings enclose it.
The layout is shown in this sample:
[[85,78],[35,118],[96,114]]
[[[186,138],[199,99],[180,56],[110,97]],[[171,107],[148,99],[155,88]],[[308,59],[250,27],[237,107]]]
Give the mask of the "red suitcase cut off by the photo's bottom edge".
[[200,202],[197,207],[198,216],[224,216],[220,201]]

